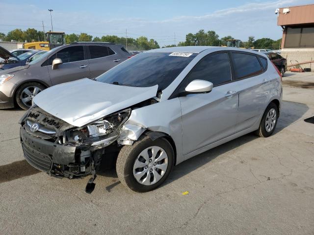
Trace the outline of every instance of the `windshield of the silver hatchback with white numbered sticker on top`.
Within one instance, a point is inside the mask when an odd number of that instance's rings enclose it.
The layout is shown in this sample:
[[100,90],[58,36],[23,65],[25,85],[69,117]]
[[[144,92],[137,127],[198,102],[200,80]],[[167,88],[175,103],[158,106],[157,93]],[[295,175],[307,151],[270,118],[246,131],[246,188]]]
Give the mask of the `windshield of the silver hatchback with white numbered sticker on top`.
[[158,85],[158,90],[161,91],[174,81],[196,55],[183,52],[140,53],[100,75],[96,80],[133,87]]

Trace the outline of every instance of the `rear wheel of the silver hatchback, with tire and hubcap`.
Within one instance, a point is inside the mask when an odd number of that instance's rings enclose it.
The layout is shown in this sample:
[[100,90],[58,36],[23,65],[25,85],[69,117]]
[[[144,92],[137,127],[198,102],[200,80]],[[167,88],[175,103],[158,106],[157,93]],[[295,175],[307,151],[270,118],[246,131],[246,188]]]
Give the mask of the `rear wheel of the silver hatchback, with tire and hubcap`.
[[266,108],[259,129],[256,134],[260,137],[269,137],[273,134],[278,120],[277,105],[271,102]]

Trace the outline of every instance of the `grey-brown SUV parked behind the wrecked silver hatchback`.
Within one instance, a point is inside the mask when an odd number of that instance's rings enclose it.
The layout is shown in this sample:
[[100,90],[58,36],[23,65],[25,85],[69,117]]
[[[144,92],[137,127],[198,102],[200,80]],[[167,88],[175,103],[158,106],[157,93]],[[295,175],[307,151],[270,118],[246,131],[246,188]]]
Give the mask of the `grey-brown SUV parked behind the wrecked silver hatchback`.
[[26,66],[0,71],[0,108],[23,109],[44,89],[56,84],[95,78],[128,59],[122,45],[73,43],[55,47]]

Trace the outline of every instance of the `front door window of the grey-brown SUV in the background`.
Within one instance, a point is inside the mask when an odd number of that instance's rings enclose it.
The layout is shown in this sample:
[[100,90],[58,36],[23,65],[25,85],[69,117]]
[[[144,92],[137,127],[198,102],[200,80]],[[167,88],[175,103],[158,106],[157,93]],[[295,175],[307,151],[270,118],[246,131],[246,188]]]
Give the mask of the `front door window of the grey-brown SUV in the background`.
[[52,65],[52,61],[55,58],[59,58],[64,63],[70,63],[75,61],[84,60],[84,48],[83,46],[66,47],[59,50],[57,53],[52,55],[48,60],[48,65]]

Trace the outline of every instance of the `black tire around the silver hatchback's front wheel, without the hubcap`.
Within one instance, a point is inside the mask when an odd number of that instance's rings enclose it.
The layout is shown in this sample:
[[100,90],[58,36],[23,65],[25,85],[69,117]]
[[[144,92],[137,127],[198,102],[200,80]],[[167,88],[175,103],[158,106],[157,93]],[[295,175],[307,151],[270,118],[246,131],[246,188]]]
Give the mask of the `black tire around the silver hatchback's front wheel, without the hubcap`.
[[[138,155],[150,146],[158,146],[165,150],[168,155],[168,166],[162,178],[153,185],[142,185],[136,181],[133,176],[133,166]],[[158,138],[152,141],[148,136],[143,135],[132,145],[124,145],[119,152],[116,169],[117,175],[121,183],[136,192],[147,192],[159,187],[169,176],[174,165],[174,151],[169,143],[164,138]]]

